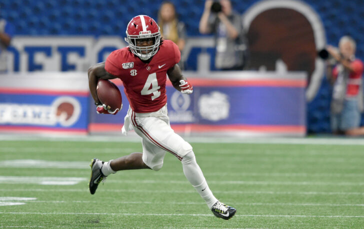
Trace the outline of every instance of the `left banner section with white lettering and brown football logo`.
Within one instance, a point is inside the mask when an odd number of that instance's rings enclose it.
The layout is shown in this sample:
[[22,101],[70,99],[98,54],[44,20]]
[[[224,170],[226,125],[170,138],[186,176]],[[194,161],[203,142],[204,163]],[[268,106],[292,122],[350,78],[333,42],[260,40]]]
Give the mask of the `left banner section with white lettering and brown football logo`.
[[85,73],[3,75],[0,131],[86,134],[87,85]]

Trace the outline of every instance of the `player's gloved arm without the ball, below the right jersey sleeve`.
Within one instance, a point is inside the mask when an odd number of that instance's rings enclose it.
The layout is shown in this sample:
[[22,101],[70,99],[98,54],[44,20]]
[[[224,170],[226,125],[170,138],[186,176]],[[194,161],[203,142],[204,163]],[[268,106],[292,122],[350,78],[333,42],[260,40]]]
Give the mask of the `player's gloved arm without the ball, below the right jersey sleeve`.
[[177,63],[167,70],[167,75],[176,90],[186,94],[193,92],[192,85],[187,81],[187,78],[183,76],[182,70]]

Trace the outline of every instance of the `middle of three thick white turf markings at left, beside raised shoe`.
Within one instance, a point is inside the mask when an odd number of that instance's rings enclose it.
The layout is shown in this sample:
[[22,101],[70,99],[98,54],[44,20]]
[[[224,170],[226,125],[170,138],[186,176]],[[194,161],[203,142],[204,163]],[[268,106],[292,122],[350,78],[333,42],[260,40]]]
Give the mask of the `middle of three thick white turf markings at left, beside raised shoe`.
[[73,185],[87,180],[85,177],[56,177],[56,176],[0,176],[0,183],[27,183],[42,185]]

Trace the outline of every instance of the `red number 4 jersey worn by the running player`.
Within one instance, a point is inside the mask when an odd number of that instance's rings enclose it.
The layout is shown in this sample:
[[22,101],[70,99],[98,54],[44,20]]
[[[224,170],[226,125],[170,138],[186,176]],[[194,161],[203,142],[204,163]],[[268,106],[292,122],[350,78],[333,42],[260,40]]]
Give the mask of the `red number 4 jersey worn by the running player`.
[[163,40],[150,62],[143,62],[128,47],[114,50],[105,62],[105,70],[121,79],[130,107],[137,113],[157,111],[167,102],[166,73],[180,60],[178,46]]

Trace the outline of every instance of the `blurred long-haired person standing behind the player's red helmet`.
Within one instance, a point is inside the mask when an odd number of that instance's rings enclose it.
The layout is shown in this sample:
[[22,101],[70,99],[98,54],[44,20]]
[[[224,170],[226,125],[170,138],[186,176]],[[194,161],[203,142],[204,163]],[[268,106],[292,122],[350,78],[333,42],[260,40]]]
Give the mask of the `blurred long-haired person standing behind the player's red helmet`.
[[[164,1],[160,5],[157,23],[160,26],[161,36],[177,44],[182,53],[186,43],[186,27],[182,21],[178,21],[175,6],[171,1]],[[180,61],[179,66],[183,69],[184,63]]]

